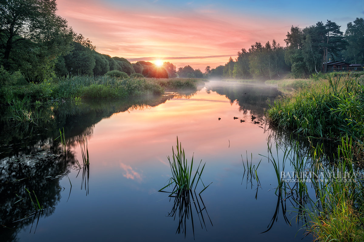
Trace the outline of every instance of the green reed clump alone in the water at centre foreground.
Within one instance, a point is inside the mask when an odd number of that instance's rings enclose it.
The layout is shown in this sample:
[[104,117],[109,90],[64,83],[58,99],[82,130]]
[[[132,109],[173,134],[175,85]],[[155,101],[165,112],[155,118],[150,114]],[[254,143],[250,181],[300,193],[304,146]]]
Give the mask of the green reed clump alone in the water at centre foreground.
[[[175,184],[173,191],[171,194],[174,193],[181,193],[184,190],[195,190],[197,187],[198,182],[201,180],[201,175],[203,172],[203,169],[205,168],[205,164],[203,164],[201,171],[199,171],[199,168],[201,166],[202,160],[200,161],[197,170],[195,171],[195,174],[193,176],[192,169],[193,169],[193,156],[191,159],[191,165],[188,165],[187,159],[185,157],[185,150],[182,149],[182,144],[179,142],[178,144],[178,137],[177,137],[177,152],[174,152],[174,148],[172,146],[172,152],[173,156],[172,159],[168,156],[169,165],[172,172],[172,177],[169,179],[169,183],[160,189],[159,191],[163,191],[166,187],[169,187],[173,184]],[[198,175],[198,176],[197,176]],[[192,177],[193,176],[193,177]],[[197,182],[195,182],[195,179],[197,178]],[[207,186],[203,184],[202,180],[201,183],[203,185],[202,191],[200,191],[199,194],[201,194],[208,186],[211,185],[211,183]],[[195,186],[194,186],[195,185]],[[193,188],[194,186],[194,188]]]

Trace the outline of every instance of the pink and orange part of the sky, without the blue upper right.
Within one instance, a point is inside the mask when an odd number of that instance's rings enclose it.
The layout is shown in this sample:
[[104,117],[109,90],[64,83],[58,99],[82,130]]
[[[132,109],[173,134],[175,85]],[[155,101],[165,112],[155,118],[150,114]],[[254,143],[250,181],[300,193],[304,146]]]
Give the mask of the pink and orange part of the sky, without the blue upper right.
[[229,56],[235,58],[241,48],[248,49],[255,41],[265,44],[275,39],[284,45],[285,35],[294,24],[284,16],[269,19],[266,14],[237,14],[213,5],[198,8],[186,3],[187,7],[181,8],[162,5],[158,0],[131,5],[122,2],[58,0],[58,14],[75,32],[89,38],[96,51],[112,57],[223,56],[166,60],[177,68],[189,64],[201,70],[207,65],[214,68],[225,64]]

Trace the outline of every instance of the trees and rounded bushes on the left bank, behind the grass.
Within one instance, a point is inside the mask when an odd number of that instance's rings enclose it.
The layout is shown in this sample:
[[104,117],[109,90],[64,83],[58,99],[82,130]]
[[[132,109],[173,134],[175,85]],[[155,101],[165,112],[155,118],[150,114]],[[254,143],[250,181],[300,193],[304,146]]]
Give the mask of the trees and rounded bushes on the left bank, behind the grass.
[[89,39],[56,15],[56,6],[56,0],[0,0],[1,79],[4,73],[16,71],[34,83],[54,76],[101,76],[110,71],[155,78],[203,77],[201,70],[189,65],[177,71],[170,62],[163,66],[147,61],[130,63],[98,53]]

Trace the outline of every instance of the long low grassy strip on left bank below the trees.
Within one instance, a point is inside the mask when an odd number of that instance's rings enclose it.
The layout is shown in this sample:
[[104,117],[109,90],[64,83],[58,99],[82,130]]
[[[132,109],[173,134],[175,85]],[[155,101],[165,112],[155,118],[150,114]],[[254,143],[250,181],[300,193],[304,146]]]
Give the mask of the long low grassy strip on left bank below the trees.
[[35,103],[80,98],[123,99],[149,94],[161,95],[168,89],[197,89],[197,78],[118,78],[113,76],[75,76],[33,84],[15,81],[1,87],[1,103],[26,100]]

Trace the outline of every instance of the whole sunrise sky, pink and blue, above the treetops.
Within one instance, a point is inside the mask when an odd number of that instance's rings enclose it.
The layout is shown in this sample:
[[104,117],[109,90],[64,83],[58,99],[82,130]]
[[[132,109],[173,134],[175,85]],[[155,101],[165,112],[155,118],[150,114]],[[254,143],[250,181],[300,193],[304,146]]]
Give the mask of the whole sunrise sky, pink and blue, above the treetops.
[[345,29],[353,16],[363,15],[359,2],[340,8],[325,1],[300,2],[299,7],[292,1],[58,0],[57,4],[58,14],[100,53],[130,61],[163,57],[177,68],[191,65],[203,70],[207,65],[224,65],[256,41],[275,39],[284,46],[292,25],[304,28],[330,19]]

